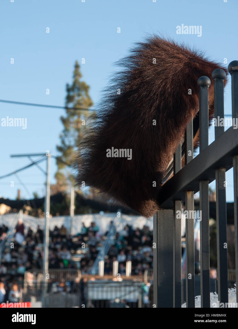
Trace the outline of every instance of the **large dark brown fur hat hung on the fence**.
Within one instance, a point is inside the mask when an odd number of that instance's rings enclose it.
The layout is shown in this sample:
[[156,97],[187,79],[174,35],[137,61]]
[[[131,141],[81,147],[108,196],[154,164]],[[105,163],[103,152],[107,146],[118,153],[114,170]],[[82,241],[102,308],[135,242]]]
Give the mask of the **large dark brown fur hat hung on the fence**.
[[[105,90],[97,118],[79,146],[77,182],[81,185],[85,181],[86,185],[150,217],[159,209],[156,200],[166,168],[187,123],[198,112],[198,78],[205,75],[211,80],[211,119],[214,113],[211,74],[216,68],[226,73],[227,70],[194,49],[156,36],[137,43],[119,65],[125,69],[116,73]],[[188,89],[192,89],[191,95]],[[194,148],[198,147],[198,140],[199,131]],[[132,149],[132,159],[106,157],[107,149],[112,147]]]

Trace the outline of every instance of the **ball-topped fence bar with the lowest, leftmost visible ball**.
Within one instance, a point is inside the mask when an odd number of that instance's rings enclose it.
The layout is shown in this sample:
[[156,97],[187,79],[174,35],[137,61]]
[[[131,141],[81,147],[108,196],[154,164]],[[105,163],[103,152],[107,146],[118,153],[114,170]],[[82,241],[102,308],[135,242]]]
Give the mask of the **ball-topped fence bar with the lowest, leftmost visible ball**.
[[[208,77],[198,79],[199,86],[199,152],[208,146]],[[200,294],[201,307],[210,307],[210,250],[209,250],[209,180],[199,182],[200,210]]]

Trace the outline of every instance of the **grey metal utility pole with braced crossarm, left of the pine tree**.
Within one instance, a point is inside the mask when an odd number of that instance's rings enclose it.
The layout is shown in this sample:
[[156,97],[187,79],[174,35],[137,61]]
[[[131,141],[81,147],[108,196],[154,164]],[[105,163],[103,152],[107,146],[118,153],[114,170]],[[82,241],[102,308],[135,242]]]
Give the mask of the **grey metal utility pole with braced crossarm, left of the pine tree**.
[[11,155],[11,157],[28,157],[29,160],[33,162],[31,157],[34,156],[46,156],[47,158],[47,166],[46,172],[36,164],[36,166],[46,175],[46,194],[45,194],[45,227],[44,227],[44,259],[43,259],[43,291],[42,291],[42,307],[45,306],[45,294],[47,291],[47,280],[46,274],[49,269],[49,218],[50,218],[50,152],[40,154],[15,154]]

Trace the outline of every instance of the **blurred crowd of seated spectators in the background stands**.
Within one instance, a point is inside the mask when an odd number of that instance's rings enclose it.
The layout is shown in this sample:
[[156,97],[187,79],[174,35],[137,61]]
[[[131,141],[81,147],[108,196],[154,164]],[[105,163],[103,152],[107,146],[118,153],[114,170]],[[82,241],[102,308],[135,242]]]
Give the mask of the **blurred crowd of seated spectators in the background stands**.
[[[5,241],[7,231],[8,227],[0,226],[0,303],[5,300],[17,302],[25,272],[41,269],[43,264],[43,231],[40,226],[33,231],[19,220],[11,241]],[[94,222],[89,227],[83,223],[81,232],[76,235],[69,235],[64,225],[55,226],[50,231],[49,268],[77,268],[82,274],[90,274],[107,233],[101,232]],[[119,274],[125,275],[126,262],[131,261],[131,274],[142,275],[145,269],[153,266],[152,239],[153,233],[146,225],[143,229],[125,225],[115,234],[114,243],[105,256],[104,273],[112,274],[113,261],[117,260]]]

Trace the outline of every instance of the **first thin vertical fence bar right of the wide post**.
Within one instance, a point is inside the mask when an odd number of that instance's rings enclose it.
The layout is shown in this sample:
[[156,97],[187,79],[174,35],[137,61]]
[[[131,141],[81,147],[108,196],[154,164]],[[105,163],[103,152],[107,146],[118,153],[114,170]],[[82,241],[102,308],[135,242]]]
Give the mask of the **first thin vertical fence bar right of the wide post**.
[[[173,157],[174,174],[180,169],[181,141]],[[181,307],[181,200],[174,201],[173,210],[173,307]]]

